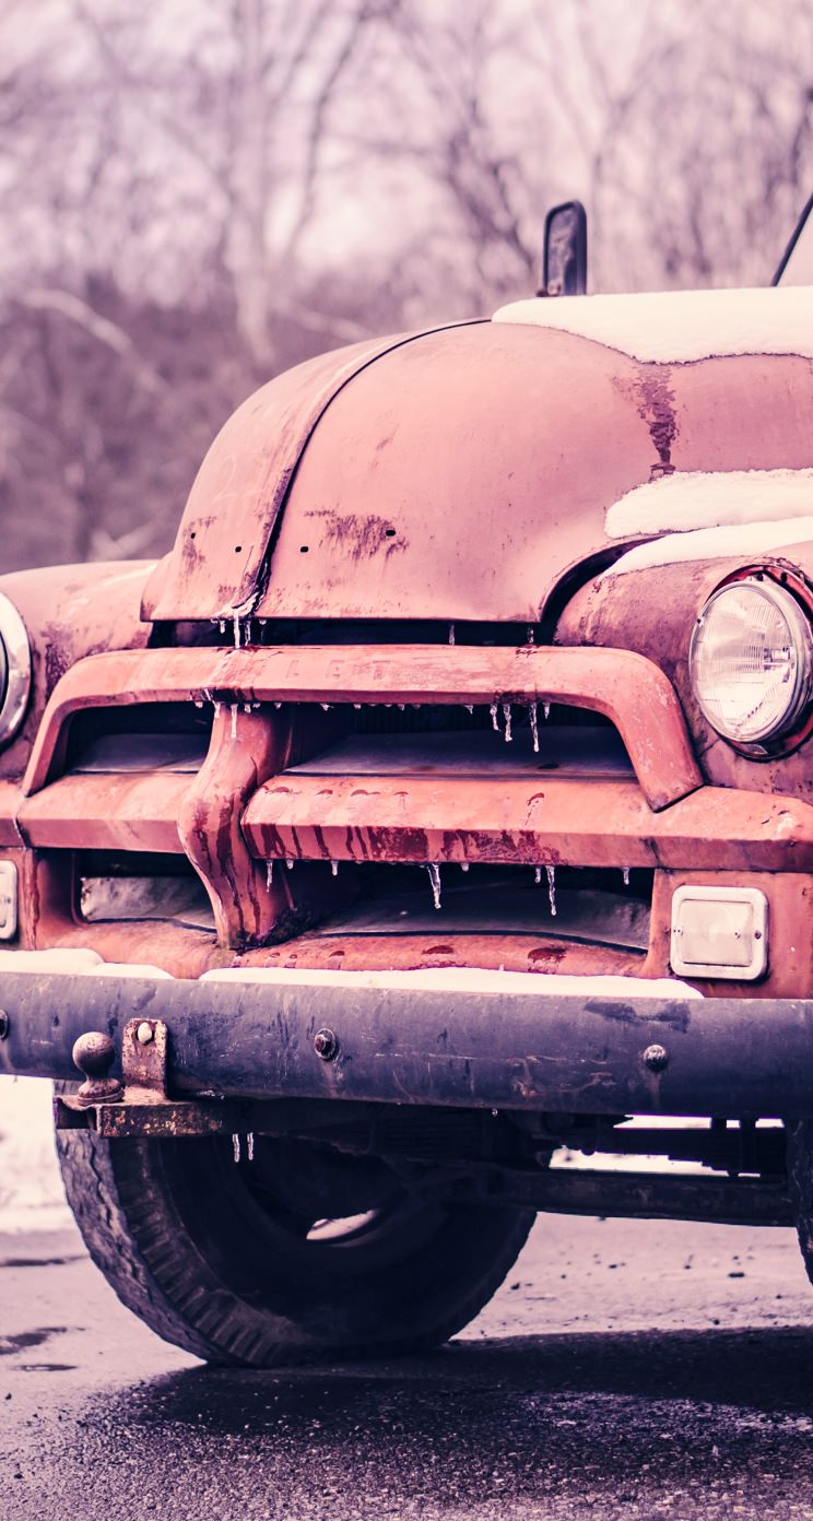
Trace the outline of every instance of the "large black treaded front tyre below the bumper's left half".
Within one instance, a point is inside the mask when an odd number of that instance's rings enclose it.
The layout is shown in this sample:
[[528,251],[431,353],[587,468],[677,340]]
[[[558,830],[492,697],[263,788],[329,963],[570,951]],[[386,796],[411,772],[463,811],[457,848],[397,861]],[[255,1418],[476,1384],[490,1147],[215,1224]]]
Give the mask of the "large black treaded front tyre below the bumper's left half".
[[435,1346],[490,1299],[533,1212],[428,1203],[384,1162],[312,1142],[58,1132],[88,1252],[152,1331],[215,1363]]

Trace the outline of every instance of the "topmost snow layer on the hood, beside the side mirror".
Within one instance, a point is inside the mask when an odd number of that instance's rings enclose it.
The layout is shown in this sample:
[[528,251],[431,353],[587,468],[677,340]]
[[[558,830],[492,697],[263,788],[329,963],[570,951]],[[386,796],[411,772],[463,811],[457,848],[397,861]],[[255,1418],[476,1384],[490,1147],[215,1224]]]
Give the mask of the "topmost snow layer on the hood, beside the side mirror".
[[492,321],[556,327],[644,364],[685,364],[723,354],[813,359],[811,286],[536,297],[499,307]]

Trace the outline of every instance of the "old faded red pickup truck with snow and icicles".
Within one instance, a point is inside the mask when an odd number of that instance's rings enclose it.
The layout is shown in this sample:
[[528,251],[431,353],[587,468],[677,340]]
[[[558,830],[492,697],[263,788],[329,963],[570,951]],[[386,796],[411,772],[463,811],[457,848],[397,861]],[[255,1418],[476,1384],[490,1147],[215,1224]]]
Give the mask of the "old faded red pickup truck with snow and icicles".
[[557,211],[540,295],[245,402],[160,563],[0,580],[0,1069],[160,1335],[431,1346],[537,1211],[811,1265],[808,240],[568,295]]

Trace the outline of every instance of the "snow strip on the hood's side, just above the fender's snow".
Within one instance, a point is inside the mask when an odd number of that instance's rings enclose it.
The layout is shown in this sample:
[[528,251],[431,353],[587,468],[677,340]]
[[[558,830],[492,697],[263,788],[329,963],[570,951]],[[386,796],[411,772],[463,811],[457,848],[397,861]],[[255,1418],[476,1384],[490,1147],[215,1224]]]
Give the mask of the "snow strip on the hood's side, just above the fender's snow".
[[780,523],[813,514],[813,470],[685,470],[627,491],[607,510],[607,538]]

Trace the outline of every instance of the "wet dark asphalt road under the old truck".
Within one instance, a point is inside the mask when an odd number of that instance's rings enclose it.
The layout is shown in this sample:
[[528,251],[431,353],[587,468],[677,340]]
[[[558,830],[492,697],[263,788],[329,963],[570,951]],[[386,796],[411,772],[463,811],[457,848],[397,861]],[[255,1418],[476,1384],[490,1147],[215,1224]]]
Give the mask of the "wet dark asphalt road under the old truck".
[[2,1521],[813,1518],[789,1230],[544,1218],[432,1357],[202,1367],[69,1230],[0,1237]]

